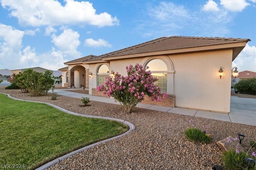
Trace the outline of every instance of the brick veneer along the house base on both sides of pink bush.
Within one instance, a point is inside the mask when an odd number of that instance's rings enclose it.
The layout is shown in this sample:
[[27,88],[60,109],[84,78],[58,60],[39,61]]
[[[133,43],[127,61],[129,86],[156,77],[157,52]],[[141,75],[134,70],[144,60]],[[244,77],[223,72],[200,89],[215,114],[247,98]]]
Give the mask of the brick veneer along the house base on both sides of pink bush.
[[[102,94],[102,92],[98,92],[96,88],[92,88],[92,95],[93,96],[108,97],[107,95]],[[157,102],[156,100],[152,101],[150,97],[145,96],[144,100],[142,100],[142,103],[144,103],[144,104],[154,104],[154,105],[160,105],[160,106],[168,106],[168,107],[175,107],[175,98],[176,98],[176,96],[174,94],[168,94],[167,98],[162,99],[161,102]]]

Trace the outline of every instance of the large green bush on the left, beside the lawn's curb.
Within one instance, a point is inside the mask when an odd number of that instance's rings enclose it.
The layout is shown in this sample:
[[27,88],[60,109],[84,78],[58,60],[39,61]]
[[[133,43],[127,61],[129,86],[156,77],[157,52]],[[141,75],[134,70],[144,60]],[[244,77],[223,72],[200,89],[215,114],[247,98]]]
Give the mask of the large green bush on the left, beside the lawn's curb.
[[20,89],[29,92],[31,96],[47,95],[48,90],[54,88],[54,79],[52,78],[52,73],[48,70],[42,73],[29,68],[22,73],[14,75],[12,82],[19,86]]

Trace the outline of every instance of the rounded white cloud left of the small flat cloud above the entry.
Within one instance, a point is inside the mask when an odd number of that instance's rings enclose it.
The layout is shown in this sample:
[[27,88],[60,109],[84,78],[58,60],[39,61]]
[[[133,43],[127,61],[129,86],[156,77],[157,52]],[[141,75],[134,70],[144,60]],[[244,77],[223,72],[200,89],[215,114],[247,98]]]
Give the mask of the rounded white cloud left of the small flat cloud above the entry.
[[72,51],[76,50],[78,45],[80,45],[79,37],[80,35],[77,31],[64,29],[63,33],[59,36],[52,35],[52,42],[61,50]]

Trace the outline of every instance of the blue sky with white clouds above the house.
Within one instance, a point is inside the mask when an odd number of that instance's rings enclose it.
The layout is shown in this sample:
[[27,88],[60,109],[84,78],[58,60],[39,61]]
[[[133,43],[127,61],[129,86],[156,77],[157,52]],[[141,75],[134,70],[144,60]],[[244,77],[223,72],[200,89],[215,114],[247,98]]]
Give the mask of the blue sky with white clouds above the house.
[[0,0],[0,69],[50,70],[164,36],[251,39],[233,61],[256,72],[256,0]]

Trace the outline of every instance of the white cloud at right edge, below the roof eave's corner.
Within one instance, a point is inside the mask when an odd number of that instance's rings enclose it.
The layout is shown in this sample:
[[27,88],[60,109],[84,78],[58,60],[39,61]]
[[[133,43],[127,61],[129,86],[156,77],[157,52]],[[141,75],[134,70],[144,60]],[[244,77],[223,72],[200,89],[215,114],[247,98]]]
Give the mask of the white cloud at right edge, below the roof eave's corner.
[[232,67],[235,66],[239,72],[244,70],[256,72],[256,47],[247,43],[242,52],[233,61]]

